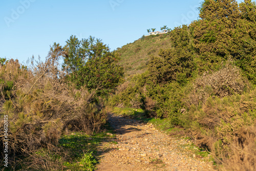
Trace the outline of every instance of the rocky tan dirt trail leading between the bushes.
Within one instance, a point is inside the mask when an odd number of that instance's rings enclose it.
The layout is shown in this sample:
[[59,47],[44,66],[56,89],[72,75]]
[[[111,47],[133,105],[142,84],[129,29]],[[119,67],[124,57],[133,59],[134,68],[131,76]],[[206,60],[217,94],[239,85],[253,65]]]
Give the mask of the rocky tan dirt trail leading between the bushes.
[[186,140],[172,138],[152,124],[115,115],[110,116],[110,124],[116,131],[117,144],[101,144],[99,171],[215,170],[212,162],[180,152]]

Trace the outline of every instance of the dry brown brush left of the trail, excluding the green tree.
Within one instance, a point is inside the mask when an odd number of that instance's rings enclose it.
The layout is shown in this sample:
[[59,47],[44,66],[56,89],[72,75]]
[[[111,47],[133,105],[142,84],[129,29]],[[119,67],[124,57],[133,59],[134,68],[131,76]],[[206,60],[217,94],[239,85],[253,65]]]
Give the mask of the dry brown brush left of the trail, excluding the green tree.
[[[0,129],[4,132],[3,117],[8,116],[10,169],[61,170],[63,162],[73,167],[74,153],[64,148],[74,146],[66,146],[62,134],[83,131],[92,135],[106,123],[103,100],[96,102],[95,91],[77,90],[66,82],[65,73],[58,70],[58,57],[50,51],[45,62],[30,68],[12,59],[0,68]],[[4,134],[0,136],[3,146]],[[89,148],[77,152],[83,169],[95,166],[89,152]],[[1,151],[0,155],[5,154]]]

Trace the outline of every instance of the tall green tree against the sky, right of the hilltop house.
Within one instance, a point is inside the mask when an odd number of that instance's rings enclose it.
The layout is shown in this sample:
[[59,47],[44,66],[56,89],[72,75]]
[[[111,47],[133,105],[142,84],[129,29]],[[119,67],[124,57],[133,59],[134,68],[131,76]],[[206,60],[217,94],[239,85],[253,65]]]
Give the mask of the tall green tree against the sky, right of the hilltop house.
[[235,0],[205,0],[200,8],[200,20],[191,24],[194,45],[202,56],[216,55],[223,59],[232,54],[232,30],[240,17]]

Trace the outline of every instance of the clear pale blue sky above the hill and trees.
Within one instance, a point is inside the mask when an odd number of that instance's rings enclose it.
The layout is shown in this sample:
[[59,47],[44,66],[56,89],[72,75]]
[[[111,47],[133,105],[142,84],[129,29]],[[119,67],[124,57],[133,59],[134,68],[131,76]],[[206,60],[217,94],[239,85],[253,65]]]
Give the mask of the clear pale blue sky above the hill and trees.
[[[146,29],[173,29],[198,18],[202,0],[1,0],[0,57],[44,59],[49,46],[71,35],[102,39],[111,50],[133,42]],[[241,2],[238,1],[238,2]]]

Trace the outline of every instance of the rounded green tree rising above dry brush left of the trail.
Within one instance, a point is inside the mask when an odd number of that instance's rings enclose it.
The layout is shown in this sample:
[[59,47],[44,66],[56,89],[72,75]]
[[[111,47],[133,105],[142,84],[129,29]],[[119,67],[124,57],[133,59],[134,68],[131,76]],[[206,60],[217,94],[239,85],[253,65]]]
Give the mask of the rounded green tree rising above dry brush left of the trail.
[[98,95],[105,96],[119,84],[123,76],[123,68],[117,64],[119,56],[110,52],[100,39],[90,36],[78,40],[72,35],[67,40],[66,50],[63,68],[77,89],[85,86],[89,91],[96,90]]

